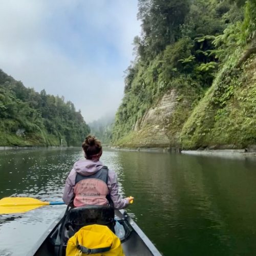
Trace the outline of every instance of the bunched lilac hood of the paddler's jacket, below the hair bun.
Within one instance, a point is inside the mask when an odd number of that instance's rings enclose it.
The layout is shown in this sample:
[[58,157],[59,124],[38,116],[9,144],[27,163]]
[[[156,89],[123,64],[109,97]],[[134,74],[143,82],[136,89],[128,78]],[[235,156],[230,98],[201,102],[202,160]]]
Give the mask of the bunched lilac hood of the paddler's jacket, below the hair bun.
[[74,170],[80,175],[90,176],[98,172],[102,168],[103,164],[100,161],[92,161],[84,159],[77,161],[74,164]]

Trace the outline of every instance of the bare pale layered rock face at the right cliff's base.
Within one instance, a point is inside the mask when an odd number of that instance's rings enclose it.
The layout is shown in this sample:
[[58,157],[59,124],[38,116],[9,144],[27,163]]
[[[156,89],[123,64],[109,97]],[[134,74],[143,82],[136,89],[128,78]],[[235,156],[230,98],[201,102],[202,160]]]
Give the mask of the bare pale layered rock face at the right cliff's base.
[[173,147],[178,150],[182,126],[196,102],[198,90],[189,87],[168,90],[137,119],[133,131],[115,145],[131,148]]

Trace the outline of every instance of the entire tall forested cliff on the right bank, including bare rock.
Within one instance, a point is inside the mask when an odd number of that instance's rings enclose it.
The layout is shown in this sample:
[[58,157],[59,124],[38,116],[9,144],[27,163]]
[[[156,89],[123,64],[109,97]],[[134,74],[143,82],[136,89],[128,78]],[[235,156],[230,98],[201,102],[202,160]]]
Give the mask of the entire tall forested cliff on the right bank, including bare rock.
[[138,19],[113,144],[256,145],[256,1],[139,0]]

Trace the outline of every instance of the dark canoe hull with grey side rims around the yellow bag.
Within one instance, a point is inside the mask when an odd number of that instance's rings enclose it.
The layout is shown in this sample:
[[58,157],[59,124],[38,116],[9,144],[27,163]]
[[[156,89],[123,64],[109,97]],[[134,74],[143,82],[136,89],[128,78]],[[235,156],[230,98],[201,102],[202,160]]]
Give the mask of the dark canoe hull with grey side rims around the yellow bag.
[[[59,216],[58,220],[52,223],[51,227],[45,232],[44,236],[42,236],[34,248],[32,248],[29,255],[56,256],[56,244],[58,244],[57,241],[59,241],[58,230],[60,229],[61,223],[63,223],[63,218],[66,218],[65,212]],[[120,240],[126,256],[162,255],[155,245],[150,241],[150,239],[147,238],[145,233],[134,222],[134,220],[127,215],[126,211],[115,210],[115,219],[118,219],[118,222],[125,226],[125,238]],[[62,254],[65,255],[65,251],[63,251]]]

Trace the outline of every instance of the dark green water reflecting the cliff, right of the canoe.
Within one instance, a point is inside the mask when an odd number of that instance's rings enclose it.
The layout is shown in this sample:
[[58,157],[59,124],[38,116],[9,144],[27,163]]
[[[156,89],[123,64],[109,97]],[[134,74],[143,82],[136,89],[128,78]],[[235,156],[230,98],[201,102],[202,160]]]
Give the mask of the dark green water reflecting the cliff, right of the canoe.
[[[123,186],[135,196],[132,211],[164,254],[256,252],[255,159],[118,155]],[[250,249],[245,249],[247,241]]]

